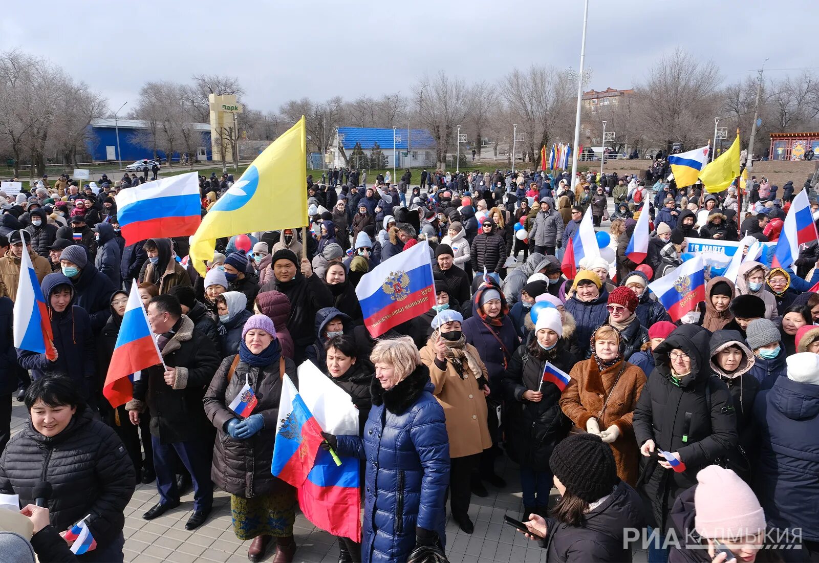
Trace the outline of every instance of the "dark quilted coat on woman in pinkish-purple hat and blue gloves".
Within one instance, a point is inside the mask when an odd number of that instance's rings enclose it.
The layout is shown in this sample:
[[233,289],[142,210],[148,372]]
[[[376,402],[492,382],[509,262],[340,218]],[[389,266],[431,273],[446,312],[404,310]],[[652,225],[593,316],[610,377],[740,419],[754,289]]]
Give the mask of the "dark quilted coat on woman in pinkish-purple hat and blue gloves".
[[[234,358],[236,354],[222,360],[203,399],[205,414],[216,428],[210,478],[225,493],[254,498],[289,487],[270,473],[283,374],[279,372],[278,358],[264,367],[254,367],[240,361],[228,381],[228,372]],[[296,364],[289,358],[284,358],[284,371],[293,384],[298,385]],[[233,439],[224,431],[224,425],[233,418],[241,417],[230,410],[228,405],[242,390],[246,380],[259,401],[253,408],[253,414],[261,414],[265,426],[250,438]]]

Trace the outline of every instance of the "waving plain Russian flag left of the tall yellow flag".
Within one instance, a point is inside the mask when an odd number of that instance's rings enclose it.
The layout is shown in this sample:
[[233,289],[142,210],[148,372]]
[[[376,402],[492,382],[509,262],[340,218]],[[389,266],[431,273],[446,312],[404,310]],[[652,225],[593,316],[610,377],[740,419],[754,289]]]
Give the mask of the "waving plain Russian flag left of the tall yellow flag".
[[126,187],[115,200],[126,245],[147,238],[192,235],[201,223],[196,172]]

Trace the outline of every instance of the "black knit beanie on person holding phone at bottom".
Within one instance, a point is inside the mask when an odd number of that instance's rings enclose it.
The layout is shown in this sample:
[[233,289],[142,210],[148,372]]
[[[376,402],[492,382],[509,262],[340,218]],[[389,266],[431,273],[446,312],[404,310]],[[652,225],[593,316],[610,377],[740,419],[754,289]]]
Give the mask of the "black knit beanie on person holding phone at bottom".
[[620,482],[609,444],[594,434],[574,434],[554,446],[549,466],[569,493],[586,502],[610,494]]

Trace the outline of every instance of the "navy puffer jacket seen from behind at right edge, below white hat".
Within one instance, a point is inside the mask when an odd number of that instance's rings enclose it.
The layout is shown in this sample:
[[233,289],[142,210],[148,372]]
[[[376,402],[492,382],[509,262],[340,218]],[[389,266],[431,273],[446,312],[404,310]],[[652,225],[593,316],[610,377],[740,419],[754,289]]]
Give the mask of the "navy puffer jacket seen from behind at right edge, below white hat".
[[757,395],[753,417],[760,446],[753,490],[768,523],[819,542],[819,385],[780,377]]

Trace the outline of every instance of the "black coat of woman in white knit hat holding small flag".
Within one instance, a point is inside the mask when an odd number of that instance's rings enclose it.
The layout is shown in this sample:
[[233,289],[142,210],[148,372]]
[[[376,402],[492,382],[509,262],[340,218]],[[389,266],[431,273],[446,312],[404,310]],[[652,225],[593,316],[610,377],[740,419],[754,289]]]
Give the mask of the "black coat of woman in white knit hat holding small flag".
[[[559,339],[551,350],[544,350],[532,338],[530,344],[518,346],[509,361],[503,384],[506,399],[506,451],[518,465],[532,471],[549,471],[549,458],[554,446],[571,427],[560,409],[561,391],[554,383],[542,383],[546,362],[563,372],[572,371],[577,358],[568,345]],[[543,399],[532,403],[523,399],[527,390],[543,393]]]

